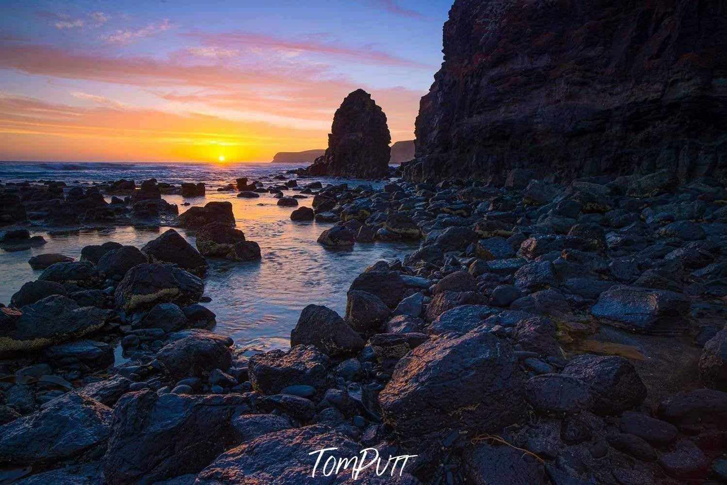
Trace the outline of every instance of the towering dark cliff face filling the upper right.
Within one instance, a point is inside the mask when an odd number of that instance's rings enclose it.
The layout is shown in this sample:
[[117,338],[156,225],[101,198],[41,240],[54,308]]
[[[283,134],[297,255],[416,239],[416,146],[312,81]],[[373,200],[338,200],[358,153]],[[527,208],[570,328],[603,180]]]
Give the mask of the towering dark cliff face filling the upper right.
[[456,0],[409,180],[727,171],[723,0]]

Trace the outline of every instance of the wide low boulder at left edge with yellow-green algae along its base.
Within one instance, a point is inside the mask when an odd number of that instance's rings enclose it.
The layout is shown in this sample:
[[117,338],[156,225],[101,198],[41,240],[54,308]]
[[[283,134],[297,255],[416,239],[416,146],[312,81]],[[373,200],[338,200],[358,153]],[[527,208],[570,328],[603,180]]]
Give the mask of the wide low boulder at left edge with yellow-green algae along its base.
[[100,329],[107,311],[81,307],[60,294],[45,297],[20,311],[0,308],[0,353],[47,347]]

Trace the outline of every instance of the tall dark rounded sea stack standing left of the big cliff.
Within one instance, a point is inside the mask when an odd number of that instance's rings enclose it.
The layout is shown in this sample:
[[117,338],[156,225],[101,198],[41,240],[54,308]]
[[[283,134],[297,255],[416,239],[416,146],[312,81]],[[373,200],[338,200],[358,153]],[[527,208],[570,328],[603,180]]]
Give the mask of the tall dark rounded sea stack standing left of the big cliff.
[[309,175],[376,179],[389,172],[391,135],[386,115],[364,89],[346,96],[333,116],[328,148]]

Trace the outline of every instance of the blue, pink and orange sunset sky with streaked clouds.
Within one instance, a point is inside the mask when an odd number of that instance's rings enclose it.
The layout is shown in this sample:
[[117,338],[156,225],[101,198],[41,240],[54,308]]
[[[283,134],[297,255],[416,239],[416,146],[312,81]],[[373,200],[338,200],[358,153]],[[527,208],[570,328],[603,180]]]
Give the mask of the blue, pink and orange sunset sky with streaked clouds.
[[363,88],[414,138],[451,0],[0,0],[0,160],[270,161]]

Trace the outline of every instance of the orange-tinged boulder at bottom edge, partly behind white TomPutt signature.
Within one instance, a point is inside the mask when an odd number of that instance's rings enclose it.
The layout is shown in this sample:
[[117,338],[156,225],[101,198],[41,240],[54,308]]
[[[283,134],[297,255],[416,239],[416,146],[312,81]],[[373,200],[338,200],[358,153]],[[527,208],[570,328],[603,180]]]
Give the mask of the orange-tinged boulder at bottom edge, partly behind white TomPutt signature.
[[[312,425],[303,428],[281,430],[265,434],[244,445],[220,454],[214,462],[197,476],[196,485],[234,484],[241,480],[249,483],[286,485],[298,483],[338,484],[350,476],[342,471],[339,475],[323,476],[322,467],[329,454],[321,458],[312,478],[317,454],[311,452],[326,448],[336,448],[337,457],[359,457],[361,451],[355,441],[325,425]],[[383,461],[383,460],[382,460]],[[366,480],[375,476],[371,468],[359,476]],[[243,478],[244,477],[244,478]]]

